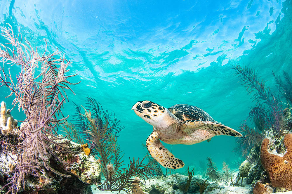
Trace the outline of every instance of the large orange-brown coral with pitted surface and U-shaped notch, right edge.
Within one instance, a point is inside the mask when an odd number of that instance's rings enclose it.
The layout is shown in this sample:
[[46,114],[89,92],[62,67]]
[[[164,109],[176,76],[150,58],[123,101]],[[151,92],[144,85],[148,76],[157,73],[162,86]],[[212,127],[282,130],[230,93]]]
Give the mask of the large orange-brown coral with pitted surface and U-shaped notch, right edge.
[[287,152],[283,157],[268,152],[270,139],[265,138],[260,149],[260,159],[269,174],[273,187],[284,187],[292,190],[292,134],[284,136]]

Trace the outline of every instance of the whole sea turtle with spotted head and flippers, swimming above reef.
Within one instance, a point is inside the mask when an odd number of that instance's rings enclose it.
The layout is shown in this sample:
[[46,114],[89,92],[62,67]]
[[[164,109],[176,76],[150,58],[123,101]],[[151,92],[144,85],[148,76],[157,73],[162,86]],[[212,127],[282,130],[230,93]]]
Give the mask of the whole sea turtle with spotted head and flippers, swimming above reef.
[[132,110],[153,126],[146,146],[151,156],[165,168],[179,169],[184,163],[174,157],[159,140],[168,144],[192,145],[215,135],[242,136],[234,129],[216,122],[201,108],[192,105],[176,104],[166,109],[151,101],[138,101]]

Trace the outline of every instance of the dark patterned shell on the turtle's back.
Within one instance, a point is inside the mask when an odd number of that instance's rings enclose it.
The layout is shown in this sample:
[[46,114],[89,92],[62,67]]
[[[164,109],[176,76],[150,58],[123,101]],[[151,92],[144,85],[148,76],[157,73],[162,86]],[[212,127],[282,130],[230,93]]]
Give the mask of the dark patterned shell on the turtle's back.
[[204,120],[216,122],[207,112],[203,109],[188,105],[188,104],[176,104],[168,108],[168,110],[179,119],[186,120]]

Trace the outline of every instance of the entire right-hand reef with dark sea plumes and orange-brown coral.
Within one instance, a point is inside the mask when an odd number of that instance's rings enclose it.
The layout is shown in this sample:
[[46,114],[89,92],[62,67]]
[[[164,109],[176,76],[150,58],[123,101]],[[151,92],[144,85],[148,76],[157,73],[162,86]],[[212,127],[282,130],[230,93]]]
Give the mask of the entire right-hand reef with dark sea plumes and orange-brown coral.
[[252,94],[251,99],[256,101],[248,115],[255,127],[243,122],[240,132],[244,138],[237,139],[238,150],[246,157],[245,163],[250,163],[247,174],[244,171],[246,183],[254,186],[255,194],[291,190],[292,78],[285,71],[284,79],[272,72],[278,89],[273,92],[255,70],[240,65],[232,65],[232,69]]

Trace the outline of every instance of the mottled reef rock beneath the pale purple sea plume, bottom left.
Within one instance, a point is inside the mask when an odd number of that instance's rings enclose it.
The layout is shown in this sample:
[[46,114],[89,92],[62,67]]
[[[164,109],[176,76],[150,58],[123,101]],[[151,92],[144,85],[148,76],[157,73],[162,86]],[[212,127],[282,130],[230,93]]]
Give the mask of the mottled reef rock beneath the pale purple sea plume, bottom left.
[[[0,188],[1,186],[4,186],[7,183],[7,179],[12,176],[13,173],[8,172],[16,165],[15,162],[17,163],[17,157],[13,152],[9,151],[7,145],[4,145],[4,141],[6,141],[7,138],[9,137],[5,138],[3,135],[0,138]],[[65,141],[68,140],[63,138],[59,140],[59,143]],[[90,185],[98,184],[101,179],[100,164],[95,160],[93,155],[87,155],[87,153],[82,151],[80,144],[71,141],[68,144],[63,145],[65,148],[78,151],[79,153],[66,154],[56,151],[54,154],[62,161],[66,162],[65,164],[56,161],[51,155],[48,155],[48,157],[53,169],[70,175],[70,177],[61,177],[44,168],[40,169],[37,173],[41,174],[43,177],[28,175],[26,178],[25,189],[22,190],[22,193],[92,193]],[[56,145],[52,144],[51,146],[58,150]],[[7,150],[4,151],[4,149]]]

